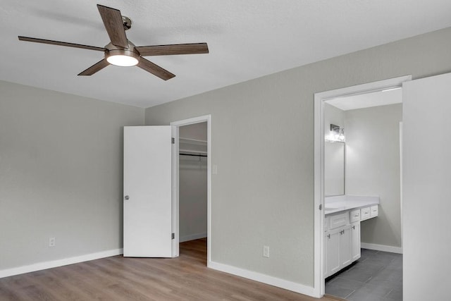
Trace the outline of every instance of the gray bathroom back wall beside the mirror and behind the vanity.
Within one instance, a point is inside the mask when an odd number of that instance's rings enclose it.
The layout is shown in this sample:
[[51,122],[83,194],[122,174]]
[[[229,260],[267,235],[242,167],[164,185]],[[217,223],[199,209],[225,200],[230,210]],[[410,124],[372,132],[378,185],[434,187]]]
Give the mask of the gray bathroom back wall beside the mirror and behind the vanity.
[[401,247],[402,104],[345,111],[346,194],[378,195],[376,219],[362,221],[362,242]]

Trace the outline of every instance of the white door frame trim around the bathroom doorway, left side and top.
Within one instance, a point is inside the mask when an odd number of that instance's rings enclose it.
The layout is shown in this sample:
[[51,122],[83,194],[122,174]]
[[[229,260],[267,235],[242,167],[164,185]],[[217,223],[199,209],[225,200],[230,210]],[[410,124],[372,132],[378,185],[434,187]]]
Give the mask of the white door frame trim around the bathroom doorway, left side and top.
[[390,78],[363,85],[355,85],[337,90],[315,93],[314,96],[314,295],[324,295],[324,214],[320,208],[324,207],[324,116],[325,101],[358,94],[366,94],[402,87],[402,82],[412,80],[412,75]]

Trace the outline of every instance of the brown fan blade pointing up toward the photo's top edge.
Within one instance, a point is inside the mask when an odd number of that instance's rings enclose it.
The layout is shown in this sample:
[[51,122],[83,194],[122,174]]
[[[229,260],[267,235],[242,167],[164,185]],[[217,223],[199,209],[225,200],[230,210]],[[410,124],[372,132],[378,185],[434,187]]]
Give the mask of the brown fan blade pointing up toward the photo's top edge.
[[118,47],[128,48],[128,40],[122,22],[121,11],[97,4],[101,20],[104,21],[106,32],[111,39],[111,44]]

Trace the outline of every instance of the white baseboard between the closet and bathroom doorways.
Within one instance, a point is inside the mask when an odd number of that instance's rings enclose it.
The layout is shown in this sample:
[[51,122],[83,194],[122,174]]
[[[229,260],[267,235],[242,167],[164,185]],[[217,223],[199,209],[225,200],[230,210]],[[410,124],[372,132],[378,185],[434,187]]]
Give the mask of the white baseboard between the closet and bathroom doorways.
[[307,286],[307,285],[302,285],[302,284],[295,283],[292,281],[276,278],[273,276],[268,276],[265,274],[257,273],[255,271],[240,269],[235,266],[229,266],[227,264],[219,264],[218,262],[209,262],[207,265],[210,269],[223,271],[228,274],[233,274],[235,276],[240,276],[240,277],[251,279],[254,281],[259,281],[261,283],[266,283],[269,285],[277,286],[278,288],[284,288],[285,290],[291,290],[295,293],[309,295],[311,297],[319,297],[319,296],[315,295],[314,288]]

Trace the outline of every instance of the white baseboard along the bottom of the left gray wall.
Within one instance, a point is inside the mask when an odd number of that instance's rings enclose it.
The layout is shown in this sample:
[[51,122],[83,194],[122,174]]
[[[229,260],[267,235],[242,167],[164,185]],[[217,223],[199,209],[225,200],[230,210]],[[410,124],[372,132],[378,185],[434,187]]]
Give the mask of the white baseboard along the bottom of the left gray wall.
[[30,273],[32,271],[40,271],[44,269],[56,268],[57,266],[66,266],[68,264],[78,264],[79,262],[87,262],[89,260],[100,259],[123,254],[123,249],[108,250],[85,254],[65,259],[52,260],[51,262],[39,262],[37,264],[29,264],[27,266],[18,266],[12,269],[4,269],[0,271],[0,278],[14,276],[18,274]]

